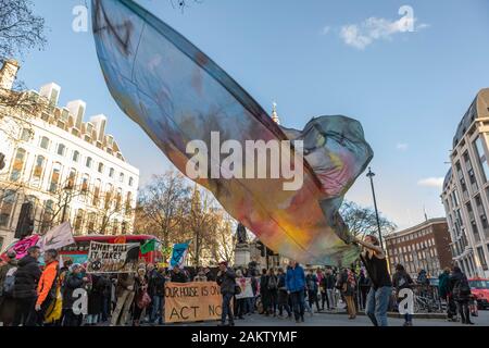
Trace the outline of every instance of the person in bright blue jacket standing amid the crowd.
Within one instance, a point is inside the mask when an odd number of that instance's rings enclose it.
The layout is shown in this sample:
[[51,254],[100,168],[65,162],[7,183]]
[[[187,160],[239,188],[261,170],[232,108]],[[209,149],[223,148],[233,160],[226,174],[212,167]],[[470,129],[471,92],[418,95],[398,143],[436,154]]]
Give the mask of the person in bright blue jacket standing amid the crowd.
[[286,287],[291,298],[296,322],[304,322],[304,270],[297,261],[290,261],[286,273]]

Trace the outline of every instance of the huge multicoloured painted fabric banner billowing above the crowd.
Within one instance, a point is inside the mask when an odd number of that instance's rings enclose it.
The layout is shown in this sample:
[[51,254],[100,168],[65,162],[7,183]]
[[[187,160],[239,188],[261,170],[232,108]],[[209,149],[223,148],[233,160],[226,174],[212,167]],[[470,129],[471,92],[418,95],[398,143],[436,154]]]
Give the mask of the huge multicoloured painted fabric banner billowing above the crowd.
[[[224,70],[135,1],[92,0],[92,20],[111,95],[181,173],[188,175],[196,157],[188,152],[190,141],[206,149],[214,148],[215,135],[220,149],[225,142],[286,144],[280,167],[300,173],[297,189],[285,189],[291,178],[284,173],[228,177],[223,153],[199,152],[208,163],[203,174],[211,175],[191,178],[275,252],[311,264],[350,266],[358,259],[360,249],[338,213],[373,157],[358,121],[321,116],[303,130],[280,128]],[[298,151],[301,141],[304,156]],[[241,173],[277,170],[273,161],[241,156]]]

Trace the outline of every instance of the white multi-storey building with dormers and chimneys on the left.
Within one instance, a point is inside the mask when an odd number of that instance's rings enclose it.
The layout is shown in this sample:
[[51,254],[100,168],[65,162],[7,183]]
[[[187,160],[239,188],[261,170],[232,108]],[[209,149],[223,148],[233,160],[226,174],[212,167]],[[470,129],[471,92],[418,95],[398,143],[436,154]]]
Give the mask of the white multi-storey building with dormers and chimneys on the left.
[[[3,96],[13,94],[17,70],[15,61],[1,69]],[[49,84],[23,92],[36,105],[27,116],[18,107],[0,105],[0,248],[14,238],[26,202],[35,232],[67,220],[76,234],[131,232],[139,170],[105,134],[104,115],[84,122],[86,103],[59,107],[60,91]]]

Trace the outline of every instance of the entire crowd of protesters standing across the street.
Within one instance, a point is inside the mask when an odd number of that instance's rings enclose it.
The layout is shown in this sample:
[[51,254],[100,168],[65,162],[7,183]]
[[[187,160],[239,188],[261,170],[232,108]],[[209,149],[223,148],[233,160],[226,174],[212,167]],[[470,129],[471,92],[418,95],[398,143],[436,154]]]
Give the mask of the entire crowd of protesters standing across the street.
[[[136,273],[88,274],[86,266],[66,261],[61,268],[55,250],[43,253],[40,268],[38,247],[16,260],[7,253],[0,266],[0,323],[4,326],[139,326],[164,323],[165,283],[216,282],[223,297],[221,325],[233,326],[235,319],[259,313],[264,316],[305,321],[308,312],[335,311],[346,307],[350,320],[365,311],[376,326],[387,326],[387,312],[399,302],[400,291],[427,284],[421,270],[413,281],[401,264],[392,276],[377,238],[358,241],[363,247],[364,268],[308,268],[290,261],[286,268],[230,268],[173,270],[141,263]],[[239,286],[250,278],[252,296],[239,297]],[[459,268],[446,270],[439,277],[439,294],[448,303],[449,318],[457,314],[464,324],[469,319],[471,288]],[[80,291],[82,290],[82,291]],[[394,295],[394,296],[392,296]],[[87,296],[87,308],[75,303]],[[233,308],[231,308],[233,307]],[[405,314],[405,326],[413,324]]]

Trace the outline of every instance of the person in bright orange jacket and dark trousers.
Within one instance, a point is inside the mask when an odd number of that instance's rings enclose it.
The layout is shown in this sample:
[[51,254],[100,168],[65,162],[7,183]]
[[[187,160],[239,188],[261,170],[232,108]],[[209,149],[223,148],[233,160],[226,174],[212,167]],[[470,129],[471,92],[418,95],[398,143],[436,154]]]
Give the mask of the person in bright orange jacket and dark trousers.
[[42,326],[45,321],[45,314],[49,306],[55,299],[55,294],[51,290],[55,289],[55,281],[58,278],[59,262],[58,251],[54,249],[47,250],[45,252],[46,268],[41,274],[39,283],[37,285],[37,300],[36,300],[36,324]]

